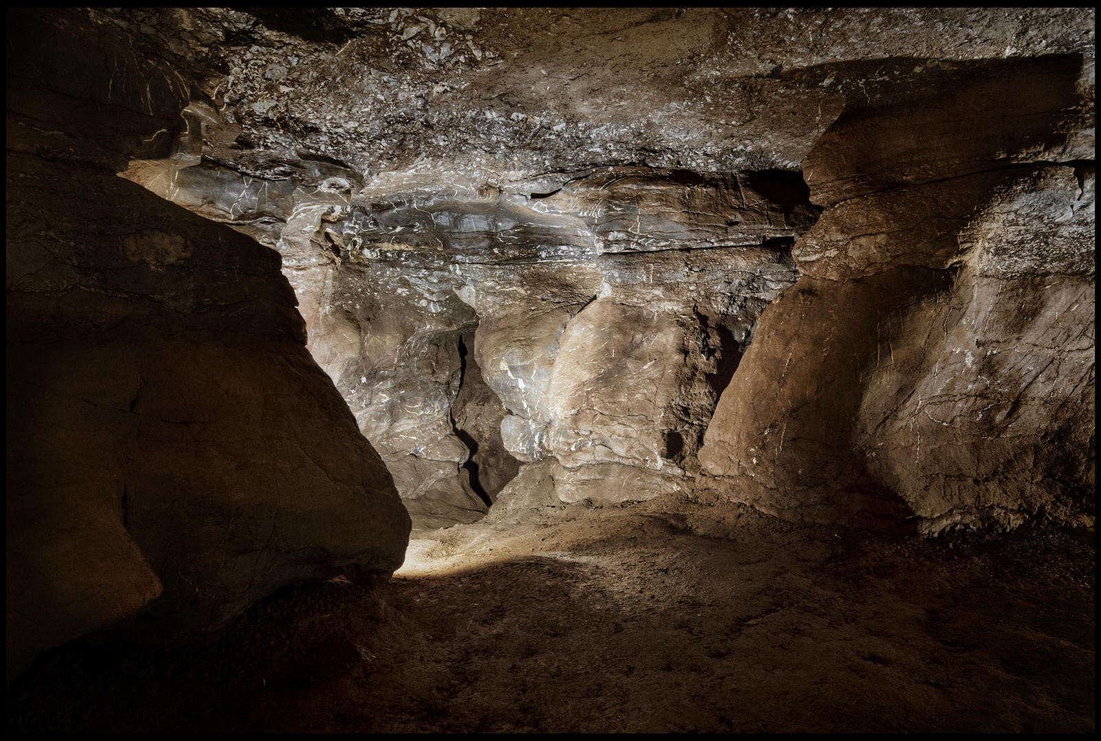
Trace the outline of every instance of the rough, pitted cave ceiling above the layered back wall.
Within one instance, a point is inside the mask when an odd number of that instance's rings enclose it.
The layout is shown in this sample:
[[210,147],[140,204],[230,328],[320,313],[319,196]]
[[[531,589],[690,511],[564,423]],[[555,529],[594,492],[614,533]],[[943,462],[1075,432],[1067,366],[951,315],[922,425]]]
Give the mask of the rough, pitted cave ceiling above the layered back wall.
[[[846,109],[974,61],[1093,55],[1083,9],[116,9],[190,70],[252,175],[513,181],[798,168]],[[949,69],[939,65],[948,63]],[[1026,103],[1027,105],[1027,103]]]

